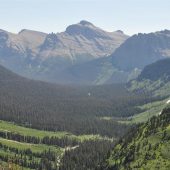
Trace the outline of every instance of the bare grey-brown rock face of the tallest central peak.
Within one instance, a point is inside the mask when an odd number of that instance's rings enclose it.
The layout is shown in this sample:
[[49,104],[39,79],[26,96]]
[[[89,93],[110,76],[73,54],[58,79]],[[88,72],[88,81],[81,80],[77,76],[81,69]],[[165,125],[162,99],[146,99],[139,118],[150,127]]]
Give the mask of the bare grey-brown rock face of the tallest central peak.
[[65,57],[72,63],[110,55],[128,36],[106,32],[87,21],[70,25],[65,32],[49,34],[41,45],[40,55]]

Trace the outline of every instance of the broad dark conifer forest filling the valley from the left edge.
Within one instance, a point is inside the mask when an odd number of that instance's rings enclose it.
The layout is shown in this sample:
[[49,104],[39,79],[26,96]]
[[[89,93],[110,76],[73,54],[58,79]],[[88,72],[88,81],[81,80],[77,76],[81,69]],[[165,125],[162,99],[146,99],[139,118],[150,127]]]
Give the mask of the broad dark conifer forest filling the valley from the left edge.
[[62,86],[22,78],[0,67],[0,119],[44,130],[118,137],[126,125],[103,116],[138,113],[144,96],[123,85]]

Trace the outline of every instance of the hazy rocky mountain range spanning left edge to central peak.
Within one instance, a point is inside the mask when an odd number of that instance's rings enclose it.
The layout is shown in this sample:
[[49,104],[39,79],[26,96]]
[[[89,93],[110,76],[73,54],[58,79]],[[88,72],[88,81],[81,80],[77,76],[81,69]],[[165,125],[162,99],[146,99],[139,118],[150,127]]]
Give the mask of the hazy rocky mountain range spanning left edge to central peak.
[[121,31],[106,32],[88,21],[56,34],[0,30],[0,64],[30,78],[49,81],[51,76],[53,82],[60,82],[65,69],[106,57],[127,38]]

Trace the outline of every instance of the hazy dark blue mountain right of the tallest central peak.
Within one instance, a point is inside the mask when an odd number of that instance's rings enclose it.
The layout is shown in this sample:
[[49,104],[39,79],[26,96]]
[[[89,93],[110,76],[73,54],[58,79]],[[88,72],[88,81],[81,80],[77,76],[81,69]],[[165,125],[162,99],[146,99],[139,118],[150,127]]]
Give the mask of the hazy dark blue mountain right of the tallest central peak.
[[111,57],[113,65],[120,70],[143,69],[157,60],[170,57],[170,31],[134,35],[117,48]]

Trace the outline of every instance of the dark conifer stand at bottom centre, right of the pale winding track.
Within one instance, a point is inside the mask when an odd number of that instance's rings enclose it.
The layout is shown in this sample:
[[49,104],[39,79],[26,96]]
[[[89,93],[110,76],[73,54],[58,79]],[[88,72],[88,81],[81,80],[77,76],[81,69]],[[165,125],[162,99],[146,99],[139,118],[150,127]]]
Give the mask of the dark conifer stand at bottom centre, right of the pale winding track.
[[103,170],[104,161],[114,143],[108,140],[85,141],[65,152],[61,170]]

